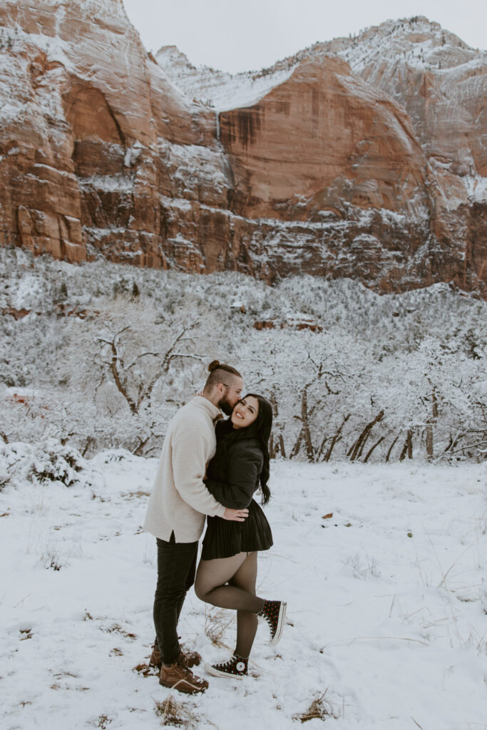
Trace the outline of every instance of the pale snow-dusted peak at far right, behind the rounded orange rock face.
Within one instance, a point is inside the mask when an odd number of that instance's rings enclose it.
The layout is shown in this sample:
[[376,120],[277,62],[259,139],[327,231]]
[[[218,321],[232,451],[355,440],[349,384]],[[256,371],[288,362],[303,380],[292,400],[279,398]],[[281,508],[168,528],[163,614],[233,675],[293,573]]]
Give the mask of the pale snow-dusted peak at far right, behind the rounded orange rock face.
[[455,249],[463,261],[464,285],[484,288],[486,51],[420,17],[388,21],[357,39],[343,39],[340,55],[407,111],[432,170],[432,233],[442,250]]

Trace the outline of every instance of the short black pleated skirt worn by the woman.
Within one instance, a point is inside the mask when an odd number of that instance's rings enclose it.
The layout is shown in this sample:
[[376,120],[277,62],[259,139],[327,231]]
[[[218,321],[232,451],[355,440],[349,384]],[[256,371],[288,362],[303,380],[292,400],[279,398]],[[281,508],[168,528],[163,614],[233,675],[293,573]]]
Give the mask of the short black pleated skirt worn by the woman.
[[229,522],[221,517],[207,518],[202,560],[231,558],[237,553],[253,553],[272,547],[272,531],[266,515],[252,500],[245,522]]

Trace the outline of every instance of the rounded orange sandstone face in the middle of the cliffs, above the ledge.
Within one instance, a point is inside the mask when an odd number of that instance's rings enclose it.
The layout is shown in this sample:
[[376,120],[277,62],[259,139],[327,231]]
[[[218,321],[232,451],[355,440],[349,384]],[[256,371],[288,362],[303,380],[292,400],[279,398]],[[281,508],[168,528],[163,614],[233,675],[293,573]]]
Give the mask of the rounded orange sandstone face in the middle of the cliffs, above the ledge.
[[352,205],[421,218],[427,209],[410,119],[339,58],[303,61],[253,106],[221,112],[220,127],[241,215],[318,221]]

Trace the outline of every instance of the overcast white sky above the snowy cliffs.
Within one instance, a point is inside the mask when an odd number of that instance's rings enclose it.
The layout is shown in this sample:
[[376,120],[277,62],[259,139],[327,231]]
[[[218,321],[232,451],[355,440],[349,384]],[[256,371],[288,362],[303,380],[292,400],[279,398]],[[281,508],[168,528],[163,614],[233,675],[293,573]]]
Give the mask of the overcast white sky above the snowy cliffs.
[[426,15],[487,47],[486,0],[123,0],[147,50],[176,45],[195,66],[236,73],[271,66],[315,41],[392,18]]

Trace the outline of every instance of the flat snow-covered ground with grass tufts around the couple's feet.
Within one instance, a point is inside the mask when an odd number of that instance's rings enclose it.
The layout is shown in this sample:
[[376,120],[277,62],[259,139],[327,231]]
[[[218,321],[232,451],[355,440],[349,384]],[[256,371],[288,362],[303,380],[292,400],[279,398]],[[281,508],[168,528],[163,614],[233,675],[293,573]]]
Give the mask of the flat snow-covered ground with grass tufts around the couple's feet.
[[[4,481],[25,454],[3,447]],[[150,730],[164,710],[184,727],[291,729],[313,701],[310,730],[487,728],[485,465],[275,462],[258,593],[287,599],[283,638],[269,648],[259,626],[253,676],[210,677],[204,696],[172,693],[176,705],[139,666],[153,639],[156,545],[140,526],[155,469],[110,451],[69,488],[17,469],[0,492],[2,729]],[[220,661],[232,612],[191,591],[180,633]]]

